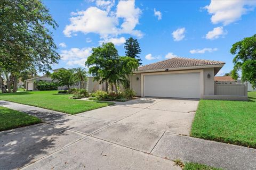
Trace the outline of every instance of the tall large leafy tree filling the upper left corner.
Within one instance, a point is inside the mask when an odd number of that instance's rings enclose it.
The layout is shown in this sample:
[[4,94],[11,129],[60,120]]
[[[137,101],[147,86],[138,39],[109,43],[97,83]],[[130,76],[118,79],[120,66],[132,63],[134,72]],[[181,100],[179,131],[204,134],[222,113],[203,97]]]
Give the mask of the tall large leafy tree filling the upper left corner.
[[58,24],[41,1],[0,1],[0,67],[14,78],[13,92],[21,71],[34,67],[45,72],[58,63],[49,26]]

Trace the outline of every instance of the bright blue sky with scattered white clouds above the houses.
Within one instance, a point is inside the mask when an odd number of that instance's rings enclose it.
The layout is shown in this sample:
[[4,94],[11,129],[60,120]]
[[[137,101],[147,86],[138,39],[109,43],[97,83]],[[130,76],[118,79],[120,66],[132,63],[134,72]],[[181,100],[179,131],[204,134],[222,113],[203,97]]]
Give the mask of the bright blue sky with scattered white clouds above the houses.
[[91,48],[113,41],[124,56],[137,38],[143,64],[175,56],[226,62],[231,45],[256,33],[256,1],[43,1],[59,24],[53,30],[59,67],[83,66]]

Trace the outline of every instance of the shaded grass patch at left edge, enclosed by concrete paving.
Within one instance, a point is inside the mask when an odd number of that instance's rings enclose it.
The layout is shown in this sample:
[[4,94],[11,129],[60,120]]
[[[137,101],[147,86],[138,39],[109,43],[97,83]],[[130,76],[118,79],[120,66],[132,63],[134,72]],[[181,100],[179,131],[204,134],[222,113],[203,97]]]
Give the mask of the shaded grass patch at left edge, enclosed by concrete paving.
[[26,113],[0,106],[0,131],[20,128],[41,122],[42,121],[35,116],[30,116]]

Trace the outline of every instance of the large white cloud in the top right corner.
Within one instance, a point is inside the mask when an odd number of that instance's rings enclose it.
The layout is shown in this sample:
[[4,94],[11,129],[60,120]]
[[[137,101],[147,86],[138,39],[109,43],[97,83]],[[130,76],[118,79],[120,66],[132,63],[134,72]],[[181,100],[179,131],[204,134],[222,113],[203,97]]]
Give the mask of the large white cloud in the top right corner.
[[211,1],[210,5],[204,8],[209,14],[212,14],[211,21],[213,24],[222,23],[224,25],[235,22],[242,15],[252,11],[256,6],[256,1]]

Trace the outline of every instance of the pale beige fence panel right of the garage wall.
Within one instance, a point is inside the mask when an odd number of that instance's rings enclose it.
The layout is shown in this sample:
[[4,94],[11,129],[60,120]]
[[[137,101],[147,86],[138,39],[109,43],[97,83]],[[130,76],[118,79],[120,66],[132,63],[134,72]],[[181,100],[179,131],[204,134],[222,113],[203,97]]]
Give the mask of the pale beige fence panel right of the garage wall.
[[215,95],[247,96],[247,83],[220,83],[215,82]]

